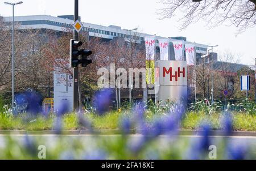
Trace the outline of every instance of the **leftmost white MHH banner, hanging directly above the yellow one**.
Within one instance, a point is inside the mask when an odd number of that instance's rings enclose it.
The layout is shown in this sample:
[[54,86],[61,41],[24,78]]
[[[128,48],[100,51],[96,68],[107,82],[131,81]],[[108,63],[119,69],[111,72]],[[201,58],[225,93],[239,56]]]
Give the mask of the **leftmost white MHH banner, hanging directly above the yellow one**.
[[146,60],[155,60],[155,36],[145,37]]

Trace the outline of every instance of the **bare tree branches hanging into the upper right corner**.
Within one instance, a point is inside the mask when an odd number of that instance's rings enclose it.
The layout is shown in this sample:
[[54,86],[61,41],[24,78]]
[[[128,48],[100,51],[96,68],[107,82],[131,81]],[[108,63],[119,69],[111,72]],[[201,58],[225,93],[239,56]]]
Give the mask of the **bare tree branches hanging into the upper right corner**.
[[200,19],[207,21],[207,25],[216,27],[227,23],[238,27],[239,31],[256,25],[255,0],[162,0],[163,8],[159,10],[160,19],[173,18],[179,12],[180,29]]

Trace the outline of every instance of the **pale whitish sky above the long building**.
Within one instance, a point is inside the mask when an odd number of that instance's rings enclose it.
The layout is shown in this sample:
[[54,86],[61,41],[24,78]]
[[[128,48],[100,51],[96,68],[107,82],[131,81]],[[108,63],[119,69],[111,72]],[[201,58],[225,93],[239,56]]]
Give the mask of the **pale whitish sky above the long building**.
[[[18,2],[5,0],[8,2]],[[0,0],[0,15],[11,16],[11,6]],[[70,15],[73,14],[73,0],[23,0],[15,7],[15,15]],[[159,20],[156,10],[158,0],[80,0],[79,15],[82,22],[100,25],[119,25],[148,34],[164,37],[184,36],[188,41],[207,45],[219,45],[214,51],[222,54],[226,51],[240,54],[240,63],[254,65],[256,57],[256,27],[249,28],[236,36],[237,28],[222,25],[207,29],[205,23],[190,25],[185,31],[179,31],[176,19]]]

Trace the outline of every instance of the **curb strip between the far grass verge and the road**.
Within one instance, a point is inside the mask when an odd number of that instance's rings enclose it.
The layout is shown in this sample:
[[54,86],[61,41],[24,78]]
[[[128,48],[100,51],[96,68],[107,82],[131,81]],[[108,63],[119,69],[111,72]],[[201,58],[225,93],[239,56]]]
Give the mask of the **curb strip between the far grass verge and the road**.
[[[140,134],[142,130],[130,130],[130,135]],[[61,135],[121,135],[122,130],[64,130]],[[3,130],[0,135],[57,135],[56,131],[24,131],[24,130]],[[201,130],[180,130],[179,135],[193,136],[203,135]],[[210,131],[210,136],[256,136],[256,132],[250,131],[231,131],[229,135],[225,131]]]

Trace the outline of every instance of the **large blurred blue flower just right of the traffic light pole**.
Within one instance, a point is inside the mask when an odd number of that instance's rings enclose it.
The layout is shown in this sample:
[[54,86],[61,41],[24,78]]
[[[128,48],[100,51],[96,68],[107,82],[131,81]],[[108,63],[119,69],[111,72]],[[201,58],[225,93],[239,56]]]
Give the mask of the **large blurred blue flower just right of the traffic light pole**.
[[102,89],[94,95],[93,106],[96,109],[97,114],[103,115],[106,112],[109,112],[112,95],[113,91],[111,89]]

